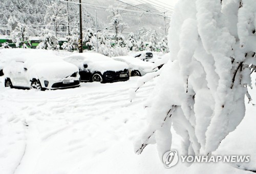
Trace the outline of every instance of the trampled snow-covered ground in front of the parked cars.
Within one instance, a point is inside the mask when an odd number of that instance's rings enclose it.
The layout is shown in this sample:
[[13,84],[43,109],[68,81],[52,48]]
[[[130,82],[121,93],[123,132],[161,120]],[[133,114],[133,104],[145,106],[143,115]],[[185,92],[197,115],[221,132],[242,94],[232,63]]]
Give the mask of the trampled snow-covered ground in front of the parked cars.
[[[0,83],[0,173],[251,173],[221,162],[187,167],[181,160],[166,169],[155,145],[136,155],[133,144],[146,124],[143,102],[155,85],[146,83],[131,103],[129,90],[139,78],[47,91]],[[250,92],[255,98],[255,90]],[[256,109],[246,109],[215,154],[250,155],[246,167],[256,170]],[[179,152],[180,138],[173,139]]]

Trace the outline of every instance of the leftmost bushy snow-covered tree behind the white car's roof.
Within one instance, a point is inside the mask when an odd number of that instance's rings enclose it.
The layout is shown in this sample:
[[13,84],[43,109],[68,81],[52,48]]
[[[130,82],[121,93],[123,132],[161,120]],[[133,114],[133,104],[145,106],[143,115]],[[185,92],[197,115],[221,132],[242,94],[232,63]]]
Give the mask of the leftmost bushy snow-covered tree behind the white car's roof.
[[12,42],[16,44],[16,47],[27,48],[31,46],[29,42],[28,27],[18,22],[17,27],[11,32]]

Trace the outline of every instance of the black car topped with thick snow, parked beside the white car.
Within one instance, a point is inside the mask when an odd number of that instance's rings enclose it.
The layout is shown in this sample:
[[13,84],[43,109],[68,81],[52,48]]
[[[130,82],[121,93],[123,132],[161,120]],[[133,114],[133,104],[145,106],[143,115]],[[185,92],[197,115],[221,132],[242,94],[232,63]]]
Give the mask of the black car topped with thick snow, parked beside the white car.
[[77,53],[63,60],[79,68],[81,82],[117,82],[129,80],[128,65],[99,53]]

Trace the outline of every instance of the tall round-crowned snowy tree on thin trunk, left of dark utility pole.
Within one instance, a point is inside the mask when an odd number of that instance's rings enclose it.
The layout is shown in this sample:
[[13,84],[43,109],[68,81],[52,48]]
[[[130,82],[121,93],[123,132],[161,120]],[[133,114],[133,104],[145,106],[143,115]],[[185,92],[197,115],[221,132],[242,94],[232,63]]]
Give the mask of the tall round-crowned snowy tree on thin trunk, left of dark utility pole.
[[54,26],[55,36],[57,36],[60,25],[67,24],[66,6],[61,2],[52,1],[46,7],[45,21],[48,25]]

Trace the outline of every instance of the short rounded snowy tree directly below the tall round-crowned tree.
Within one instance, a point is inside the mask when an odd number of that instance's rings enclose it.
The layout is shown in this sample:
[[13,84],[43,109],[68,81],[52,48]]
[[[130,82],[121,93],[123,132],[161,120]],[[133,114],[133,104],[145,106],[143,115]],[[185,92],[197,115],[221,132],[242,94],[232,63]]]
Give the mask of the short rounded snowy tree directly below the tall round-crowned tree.
[[40,49],[59,49],[58,39],[55,36],[53,30],[45,29],[42,30],[40,34],[41,42],[38,44],[37,48]]

